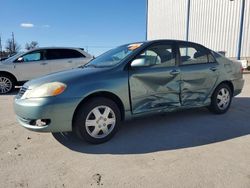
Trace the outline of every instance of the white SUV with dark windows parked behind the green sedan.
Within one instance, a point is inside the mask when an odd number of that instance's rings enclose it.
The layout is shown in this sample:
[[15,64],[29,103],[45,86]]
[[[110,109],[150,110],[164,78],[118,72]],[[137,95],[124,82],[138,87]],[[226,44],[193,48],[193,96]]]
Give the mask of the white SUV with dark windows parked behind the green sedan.
[[81,48],[37,48],[0,62],[0,94],[18,82],[88,63],[93,57]]

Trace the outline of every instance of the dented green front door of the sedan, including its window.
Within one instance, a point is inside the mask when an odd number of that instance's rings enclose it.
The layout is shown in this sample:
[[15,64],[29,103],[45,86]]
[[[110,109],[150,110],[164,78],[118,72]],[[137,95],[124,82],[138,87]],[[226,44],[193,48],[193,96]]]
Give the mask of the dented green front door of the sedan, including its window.
[[180,106],[180,71],[170,46],[151,47],[133,63],[135,67],[129,70],[132,113],[167,111]]

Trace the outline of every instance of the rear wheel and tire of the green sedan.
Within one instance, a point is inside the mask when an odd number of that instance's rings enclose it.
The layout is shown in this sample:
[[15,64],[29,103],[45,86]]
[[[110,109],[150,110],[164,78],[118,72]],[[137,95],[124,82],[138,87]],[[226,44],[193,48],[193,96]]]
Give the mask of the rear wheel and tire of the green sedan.
[[224,114],[231,105],[232,97],[231,88],[222,83],[215,89],[208,109],[215,114]]

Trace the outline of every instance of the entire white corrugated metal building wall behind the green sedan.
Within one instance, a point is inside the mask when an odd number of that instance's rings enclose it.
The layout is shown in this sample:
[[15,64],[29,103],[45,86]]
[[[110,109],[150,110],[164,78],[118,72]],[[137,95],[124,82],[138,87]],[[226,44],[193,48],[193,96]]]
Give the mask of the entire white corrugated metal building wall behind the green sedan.
[[[148,0],[148,39],[186,38],[187,0]],[[242,0],[190,0],[189,40],[236,57]],[[250,57],[246,0],[241,57]]]

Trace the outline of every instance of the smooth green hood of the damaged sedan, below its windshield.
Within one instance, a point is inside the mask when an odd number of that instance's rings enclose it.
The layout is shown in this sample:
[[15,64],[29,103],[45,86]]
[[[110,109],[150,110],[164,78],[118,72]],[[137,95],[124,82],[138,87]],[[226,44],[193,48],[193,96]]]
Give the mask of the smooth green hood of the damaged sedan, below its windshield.
[[32,89],[49,82],[62,82],[68,85],[79,80],[86,81],[89,77],[93,79],[95,74],[99,74],[105,70],[107,68],[75,68],[30,80],[24,84],[24,87]]

